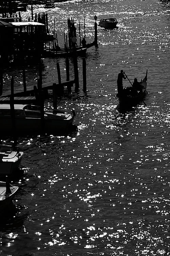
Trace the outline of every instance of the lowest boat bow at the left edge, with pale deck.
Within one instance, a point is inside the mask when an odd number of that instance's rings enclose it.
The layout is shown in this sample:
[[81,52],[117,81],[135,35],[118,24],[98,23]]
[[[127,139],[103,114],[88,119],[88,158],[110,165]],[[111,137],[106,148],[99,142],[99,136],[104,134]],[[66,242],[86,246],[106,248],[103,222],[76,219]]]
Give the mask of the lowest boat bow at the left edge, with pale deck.
[[13,186],[10,183],[0,181],[0,214],[8,205],[13,203],[15,193],[18,190],[17,186]]

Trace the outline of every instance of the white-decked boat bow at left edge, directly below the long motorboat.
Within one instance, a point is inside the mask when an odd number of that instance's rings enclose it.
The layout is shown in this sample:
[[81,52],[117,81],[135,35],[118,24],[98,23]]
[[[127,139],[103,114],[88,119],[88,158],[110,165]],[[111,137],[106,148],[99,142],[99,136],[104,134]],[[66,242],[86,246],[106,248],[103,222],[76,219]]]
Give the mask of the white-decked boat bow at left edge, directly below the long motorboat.
[[13,151],[11,146],[0,145],[0,175],[10,175],[19,168],[23,152]]

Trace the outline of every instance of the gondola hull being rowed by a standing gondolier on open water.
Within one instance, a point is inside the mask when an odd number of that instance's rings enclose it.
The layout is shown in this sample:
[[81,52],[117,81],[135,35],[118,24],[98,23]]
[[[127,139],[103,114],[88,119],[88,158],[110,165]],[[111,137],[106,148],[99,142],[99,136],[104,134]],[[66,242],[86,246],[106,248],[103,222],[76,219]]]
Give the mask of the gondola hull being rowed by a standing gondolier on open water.
[[148,69],[145,78],[139,82],[141,85],[140,91],[135,90],[132,86],[128,86],[123,89],[122,94],[116,95],[121,106],[135,106],[143,100],[147,88],[147,74]]

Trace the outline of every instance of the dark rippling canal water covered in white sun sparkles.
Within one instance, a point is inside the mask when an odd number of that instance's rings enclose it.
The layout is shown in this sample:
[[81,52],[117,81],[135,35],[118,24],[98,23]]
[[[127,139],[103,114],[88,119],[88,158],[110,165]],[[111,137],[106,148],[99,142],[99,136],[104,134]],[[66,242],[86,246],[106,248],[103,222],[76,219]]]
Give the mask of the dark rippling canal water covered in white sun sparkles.
[[[95,0],[56,6],[48,10],[49,26],[54,29],[55,17],[61,46],[68,15],[77,27],[80,19],[82,36],[86,17],[87,42],[94,39],[95,14],[97,22],[103,15],[116,16],[119,27],[98,27],[99,47],[86,54],[87,93],[79,58],[80,91],[65,91],[58,103],[75,109],[78,131],[18,138],[22,173],[13,181],[19,186],[16,209],[0,223],[1,255],[169,255],[170,4]],[[44,11],[34,6],[34,12]],[[58,61],[65,82],[65,60]],[[43,84],[57,82],[56,60],[42,63]],[[27,67],[28,87],[36,84],[37,68],[36,63]],[[148,69],[146,105],[120,111],[116,80],[121,69],[130,81],[140,80]],[[15,91],[20,90],[21,71],[5,70],[4,93],[11,75]],[[52,106],[52,95],[45,105]]]

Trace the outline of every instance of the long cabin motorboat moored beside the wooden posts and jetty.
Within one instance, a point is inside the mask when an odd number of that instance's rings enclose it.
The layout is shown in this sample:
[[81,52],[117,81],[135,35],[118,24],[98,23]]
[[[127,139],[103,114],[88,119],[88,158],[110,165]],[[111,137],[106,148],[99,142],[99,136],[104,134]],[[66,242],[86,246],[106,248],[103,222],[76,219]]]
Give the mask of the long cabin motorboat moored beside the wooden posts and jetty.
[[0,131],[16,132],[63,131],[69,129],[75,117],[71,113],[53,109],[44,111],[40,106],[31,104],[14,104],[14,116],[11,116],[10,104],[0,104]]

